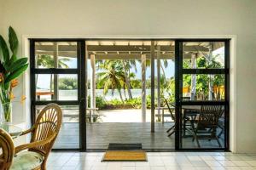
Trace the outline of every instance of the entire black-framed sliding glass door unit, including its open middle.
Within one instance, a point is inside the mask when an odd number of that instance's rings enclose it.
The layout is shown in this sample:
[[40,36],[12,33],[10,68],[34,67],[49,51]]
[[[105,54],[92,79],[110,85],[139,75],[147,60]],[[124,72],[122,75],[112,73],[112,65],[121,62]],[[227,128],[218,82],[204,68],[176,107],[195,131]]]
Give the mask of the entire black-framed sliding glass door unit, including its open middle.
[[229,150],[229,41],[31,39],[32,123],[56,103],[55,149]]

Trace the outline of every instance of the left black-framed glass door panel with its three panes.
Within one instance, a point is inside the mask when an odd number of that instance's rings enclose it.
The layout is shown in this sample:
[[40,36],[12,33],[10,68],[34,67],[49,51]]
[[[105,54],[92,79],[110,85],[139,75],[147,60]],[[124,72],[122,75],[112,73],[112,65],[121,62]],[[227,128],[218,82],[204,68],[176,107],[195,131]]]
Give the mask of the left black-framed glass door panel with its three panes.
[[30,42],[32,123],[45,105],[56,103],[61,106],[63,117],[54,148],[82,148],[80,116],[84,105],[80,101],[84,93],[80,77],[84,41],[32,39]]

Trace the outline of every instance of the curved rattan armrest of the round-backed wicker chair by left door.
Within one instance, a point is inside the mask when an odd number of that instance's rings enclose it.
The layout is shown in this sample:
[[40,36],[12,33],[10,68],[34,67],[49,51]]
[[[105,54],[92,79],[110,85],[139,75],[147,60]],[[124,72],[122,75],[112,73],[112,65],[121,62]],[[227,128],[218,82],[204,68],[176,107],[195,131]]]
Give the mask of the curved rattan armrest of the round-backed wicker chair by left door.
[[55,139],[56,133],[53,133],[52,135],[49,136],[48,139],[40,140],[37,142],[32,142],[29,144],[22,144],[20,146],[15,147],[15,154],[19,153],[21,150],[27,150],[27,149],[32,149],[35,147],[38,147],[40,145],[48,144],[50,141]]

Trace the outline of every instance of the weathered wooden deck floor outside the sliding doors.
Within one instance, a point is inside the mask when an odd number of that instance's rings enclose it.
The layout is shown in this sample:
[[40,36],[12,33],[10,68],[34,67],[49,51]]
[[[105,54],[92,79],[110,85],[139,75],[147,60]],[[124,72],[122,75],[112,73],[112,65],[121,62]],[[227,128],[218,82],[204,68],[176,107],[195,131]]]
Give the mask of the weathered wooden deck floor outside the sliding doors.
[[[100,122],[87,123],[87,149],[107,150],[109,143],[142,143],[143,149],[174,149],[174,135],[166,130],[173,122],[155,122],[155,132],[150,132],[149,122]],[[220,139],[224,144],[223,139]],[[218,147],[216,141],[201,140],[201,147]],[[197,147],[192,138],[183,138],[184,148]],[[79,123],[63,123],[54,148],[79,148]]]

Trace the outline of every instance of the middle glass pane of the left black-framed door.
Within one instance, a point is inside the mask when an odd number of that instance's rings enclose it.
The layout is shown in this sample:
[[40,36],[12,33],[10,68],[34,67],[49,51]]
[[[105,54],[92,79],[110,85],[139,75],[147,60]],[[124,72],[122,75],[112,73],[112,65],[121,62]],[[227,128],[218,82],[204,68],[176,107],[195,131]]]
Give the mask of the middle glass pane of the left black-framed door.
[[78,76],[75,74],[36,75],[37,100],[78,100]]

